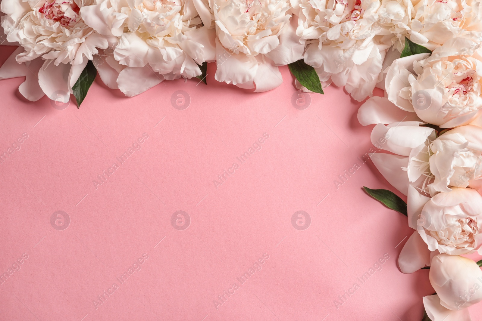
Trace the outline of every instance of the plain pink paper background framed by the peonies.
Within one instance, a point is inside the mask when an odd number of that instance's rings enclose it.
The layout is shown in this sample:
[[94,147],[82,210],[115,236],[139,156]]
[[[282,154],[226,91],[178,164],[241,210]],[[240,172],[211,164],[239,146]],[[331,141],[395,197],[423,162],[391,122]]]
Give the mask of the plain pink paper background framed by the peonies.
[[[13,48],[2,50],[1,62]],[[0,319],[420,320],[433,290],[427,270],[397,268],[406,218],[361,188],[387,186],[358,158],[371,148],[359,103],[330,87],[297,110],[286,67],[284,84],[260,94],[215,82],[213,65],[208,73],[209,86],[176,80],[134,98],[97,78],[79,110],[27,102],[21,78],[0,81],[0,152],[28,135],[0,165],[0,272],[28,256],[0,285]],[[171,105],[176,90],[190,96],[187,109]],[[215,184],[225,170],[234,173]],[[70,218],[62,231],[51,225],[58,210]],[[185,230],[171,224],[178,210]],[[292,225],[299,210],[308,229]],[[336,306],[339,295],[347,299]],[[482,309],[471,311],[480,320]]]

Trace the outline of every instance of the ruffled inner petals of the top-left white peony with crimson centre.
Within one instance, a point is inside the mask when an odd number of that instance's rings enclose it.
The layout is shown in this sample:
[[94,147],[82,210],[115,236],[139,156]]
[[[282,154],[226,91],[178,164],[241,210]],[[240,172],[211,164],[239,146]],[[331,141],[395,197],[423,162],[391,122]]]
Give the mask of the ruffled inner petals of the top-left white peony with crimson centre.
[[9,42],[18,42],[25,51],[17,62],[35,58],[60,63],[82,64],[92,60],[96,48],[107,48],[107,40],[97,35],[80,17],[80,7],[90,0],[3,0],[1,25]]

